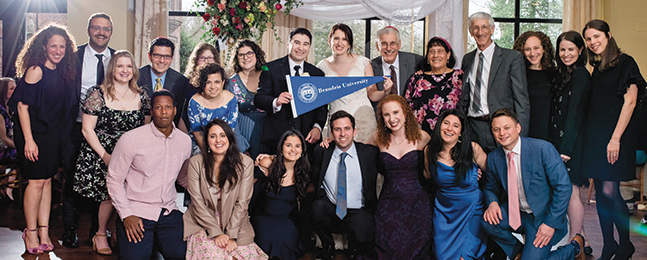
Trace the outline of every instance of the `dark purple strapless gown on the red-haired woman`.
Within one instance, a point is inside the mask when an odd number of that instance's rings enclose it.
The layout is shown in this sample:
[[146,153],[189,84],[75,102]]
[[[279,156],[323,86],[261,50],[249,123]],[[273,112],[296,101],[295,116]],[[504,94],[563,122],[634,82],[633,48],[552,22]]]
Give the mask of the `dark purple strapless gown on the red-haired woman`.
[[423,156],[418,150],[400,159],[380,153],[384,186],[375,213],[378,259],[430,259],[431,207],[419,179]]

